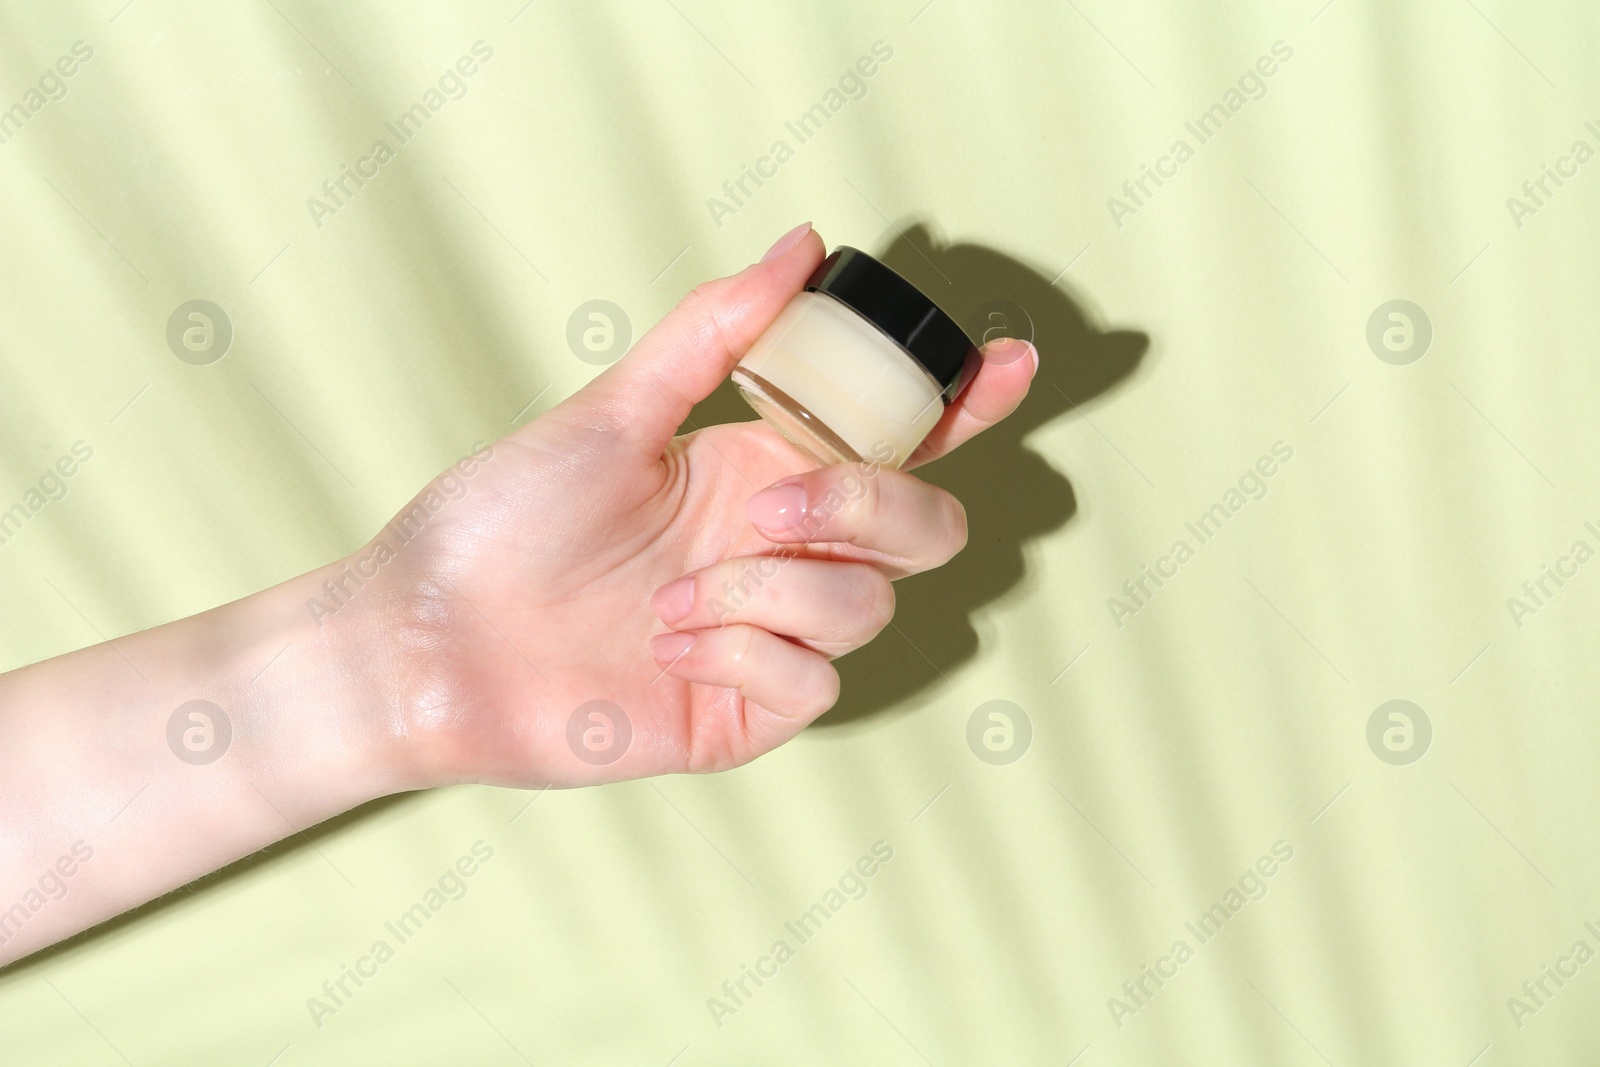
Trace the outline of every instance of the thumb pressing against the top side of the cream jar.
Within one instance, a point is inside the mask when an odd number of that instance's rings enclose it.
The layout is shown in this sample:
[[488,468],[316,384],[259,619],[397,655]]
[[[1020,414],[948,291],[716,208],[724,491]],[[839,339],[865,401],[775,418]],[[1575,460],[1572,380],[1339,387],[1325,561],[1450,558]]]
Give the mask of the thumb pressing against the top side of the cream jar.
[[803,222],[762,262],[704,282],[627,355],[558,405],[568,418],[659,458],[690,410],[709,397],[822,261],[822,238]]

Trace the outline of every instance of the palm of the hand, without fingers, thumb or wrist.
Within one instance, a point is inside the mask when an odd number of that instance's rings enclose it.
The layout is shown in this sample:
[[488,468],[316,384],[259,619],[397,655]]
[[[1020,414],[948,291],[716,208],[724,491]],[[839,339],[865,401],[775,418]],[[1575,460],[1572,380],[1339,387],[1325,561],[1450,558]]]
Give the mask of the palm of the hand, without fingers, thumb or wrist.
[[[811,467],[762,422],[675,438],[654,462],[534,422],[494,446],[464,498],[408,545],[402,574],[410,721],[437,733],[438,773],[507,785],[608,781],[574,758],[589,701],[627,715],[627,774],[744,763],[736,689],[662,673],[646,601],[715,560],[771,552],[746,499]],[[621,757],[614,747],[594,758]],[[611,760],[614,761],[614,758]]]

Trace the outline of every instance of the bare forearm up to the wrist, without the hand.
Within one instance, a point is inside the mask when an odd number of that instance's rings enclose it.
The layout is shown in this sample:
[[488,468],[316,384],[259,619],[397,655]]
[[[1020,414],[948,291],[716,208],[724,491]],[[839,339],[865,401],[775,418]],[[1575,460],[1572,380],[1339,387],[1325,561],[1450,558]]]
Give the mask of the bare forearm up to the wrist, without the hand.
[[336,569],[0,677],[0,965],[410,787]]

